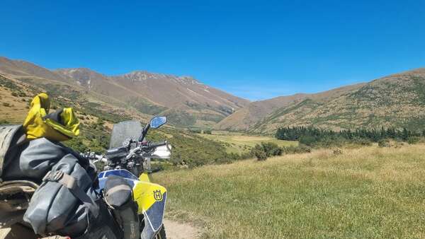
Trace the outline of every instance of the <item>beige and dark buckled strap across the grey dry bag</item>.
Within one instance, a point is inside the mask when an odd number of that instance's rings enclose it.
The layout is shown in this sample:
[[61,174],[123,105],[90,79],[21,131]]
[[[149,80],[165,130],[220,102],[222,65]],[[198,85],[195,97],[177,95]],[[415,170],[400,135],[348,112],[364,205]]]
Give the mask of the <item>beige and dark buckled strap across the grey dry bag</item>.
[[67,173],[64,173],[63,171],[57,170],[55,173],[52,173],[52,171],[49,171],[46,173],[46,175],[42,178],[43,182],[50,181],[50,182],[59,182],[60,184],[64,185],[69,189],[72,194],[74,194],[75,197],[77,197],[81,202],[86,205],[92,214],[94,214],[95,217],[98,216],[99,208],[89,195],[86,194],[83,190],[81,190],[81,187],[78,187],[77,181],[74,177],[71,175],[67,175]]

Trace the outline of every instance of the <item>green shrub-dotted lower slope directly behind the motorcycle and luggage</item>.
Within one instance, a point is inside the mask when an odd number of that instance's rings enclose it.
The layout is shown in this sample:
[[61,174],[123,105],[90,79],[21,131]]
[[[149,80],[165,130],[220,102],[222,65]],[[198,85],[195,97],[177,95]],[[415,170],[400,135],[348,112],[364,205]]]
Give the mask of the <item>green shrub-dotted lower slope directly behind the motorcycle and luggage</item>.
[[[0,74],[0,124],[22,124],[28,114],[28,105],[33,95],[42,91],[45,89]],[[147,122],[147,119],[130,111],[86,102],[82,95],[78,95],[78,92],[71,91],[60,95],[55,95],[55,92],[50,93],[51,96],[54,95],[51,99],[52,110],[62,106],[74,107],[81,122],[80,135],[64,142],[77,151],[102,152],[108,148],[113,122],[125,119],[140,119],[142,122]],[[225,161],[229,157],[225,146],[222,146],[220,142],[206,139],[187,130],[176,129],[169,124],[161,129],[150,130],[147,139],[169,141],[173,146],[169,164],[194,167]]]

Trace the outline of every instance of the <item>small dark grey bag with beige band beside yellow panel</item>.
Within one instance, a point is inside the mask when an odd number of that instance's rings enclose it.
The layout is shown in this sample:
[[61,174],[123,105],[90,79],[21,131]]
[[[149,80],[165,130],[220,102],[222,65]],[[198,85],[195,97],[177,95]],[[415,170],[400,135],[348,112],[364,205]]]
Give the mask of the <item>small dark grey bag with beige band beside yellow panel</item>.
[[123,228],[125,239],[139,239],[140,226],[137,204],[132,196],[132,188],[123,177],[108,176],[104,187],[106,204],[111,207],[115,219]]

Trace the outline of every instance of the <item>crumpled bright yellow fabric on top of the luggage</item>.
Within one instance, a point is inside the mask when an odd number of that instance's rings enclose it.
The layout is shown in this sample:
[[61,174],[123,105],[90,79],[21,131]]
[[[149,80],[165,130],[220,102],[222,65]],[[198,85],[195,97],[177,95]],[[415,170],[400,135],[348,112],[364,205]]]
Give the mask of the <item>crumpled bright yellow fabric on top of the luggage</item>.
[[79,120],[72,108],[64,108],[60,112],[60,122],[49,118],[49,111],[49,95],[46,93],[36,95],[31,102],[25,122],[23,122],[27,139],[45,137],[53,141],[66,141],[79,135]]

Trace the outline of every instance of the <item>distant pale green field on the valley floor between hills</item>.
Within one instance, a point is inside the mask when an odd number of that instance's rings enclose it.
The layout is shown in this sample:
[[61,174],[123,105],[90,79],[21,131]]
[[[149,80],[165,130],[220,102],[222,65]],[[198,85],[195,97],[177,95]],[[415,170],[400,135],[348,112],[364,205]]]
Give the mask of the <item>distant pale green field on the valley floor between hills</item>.
[[212,134],[198,135],[222,143],[227,153],[247,153],[252,147],[261,142],[273,142],[278,144],[278,146],[298,145],[297,141],[284,141],[269,136],[247,136],[230,132],[212,132]]

